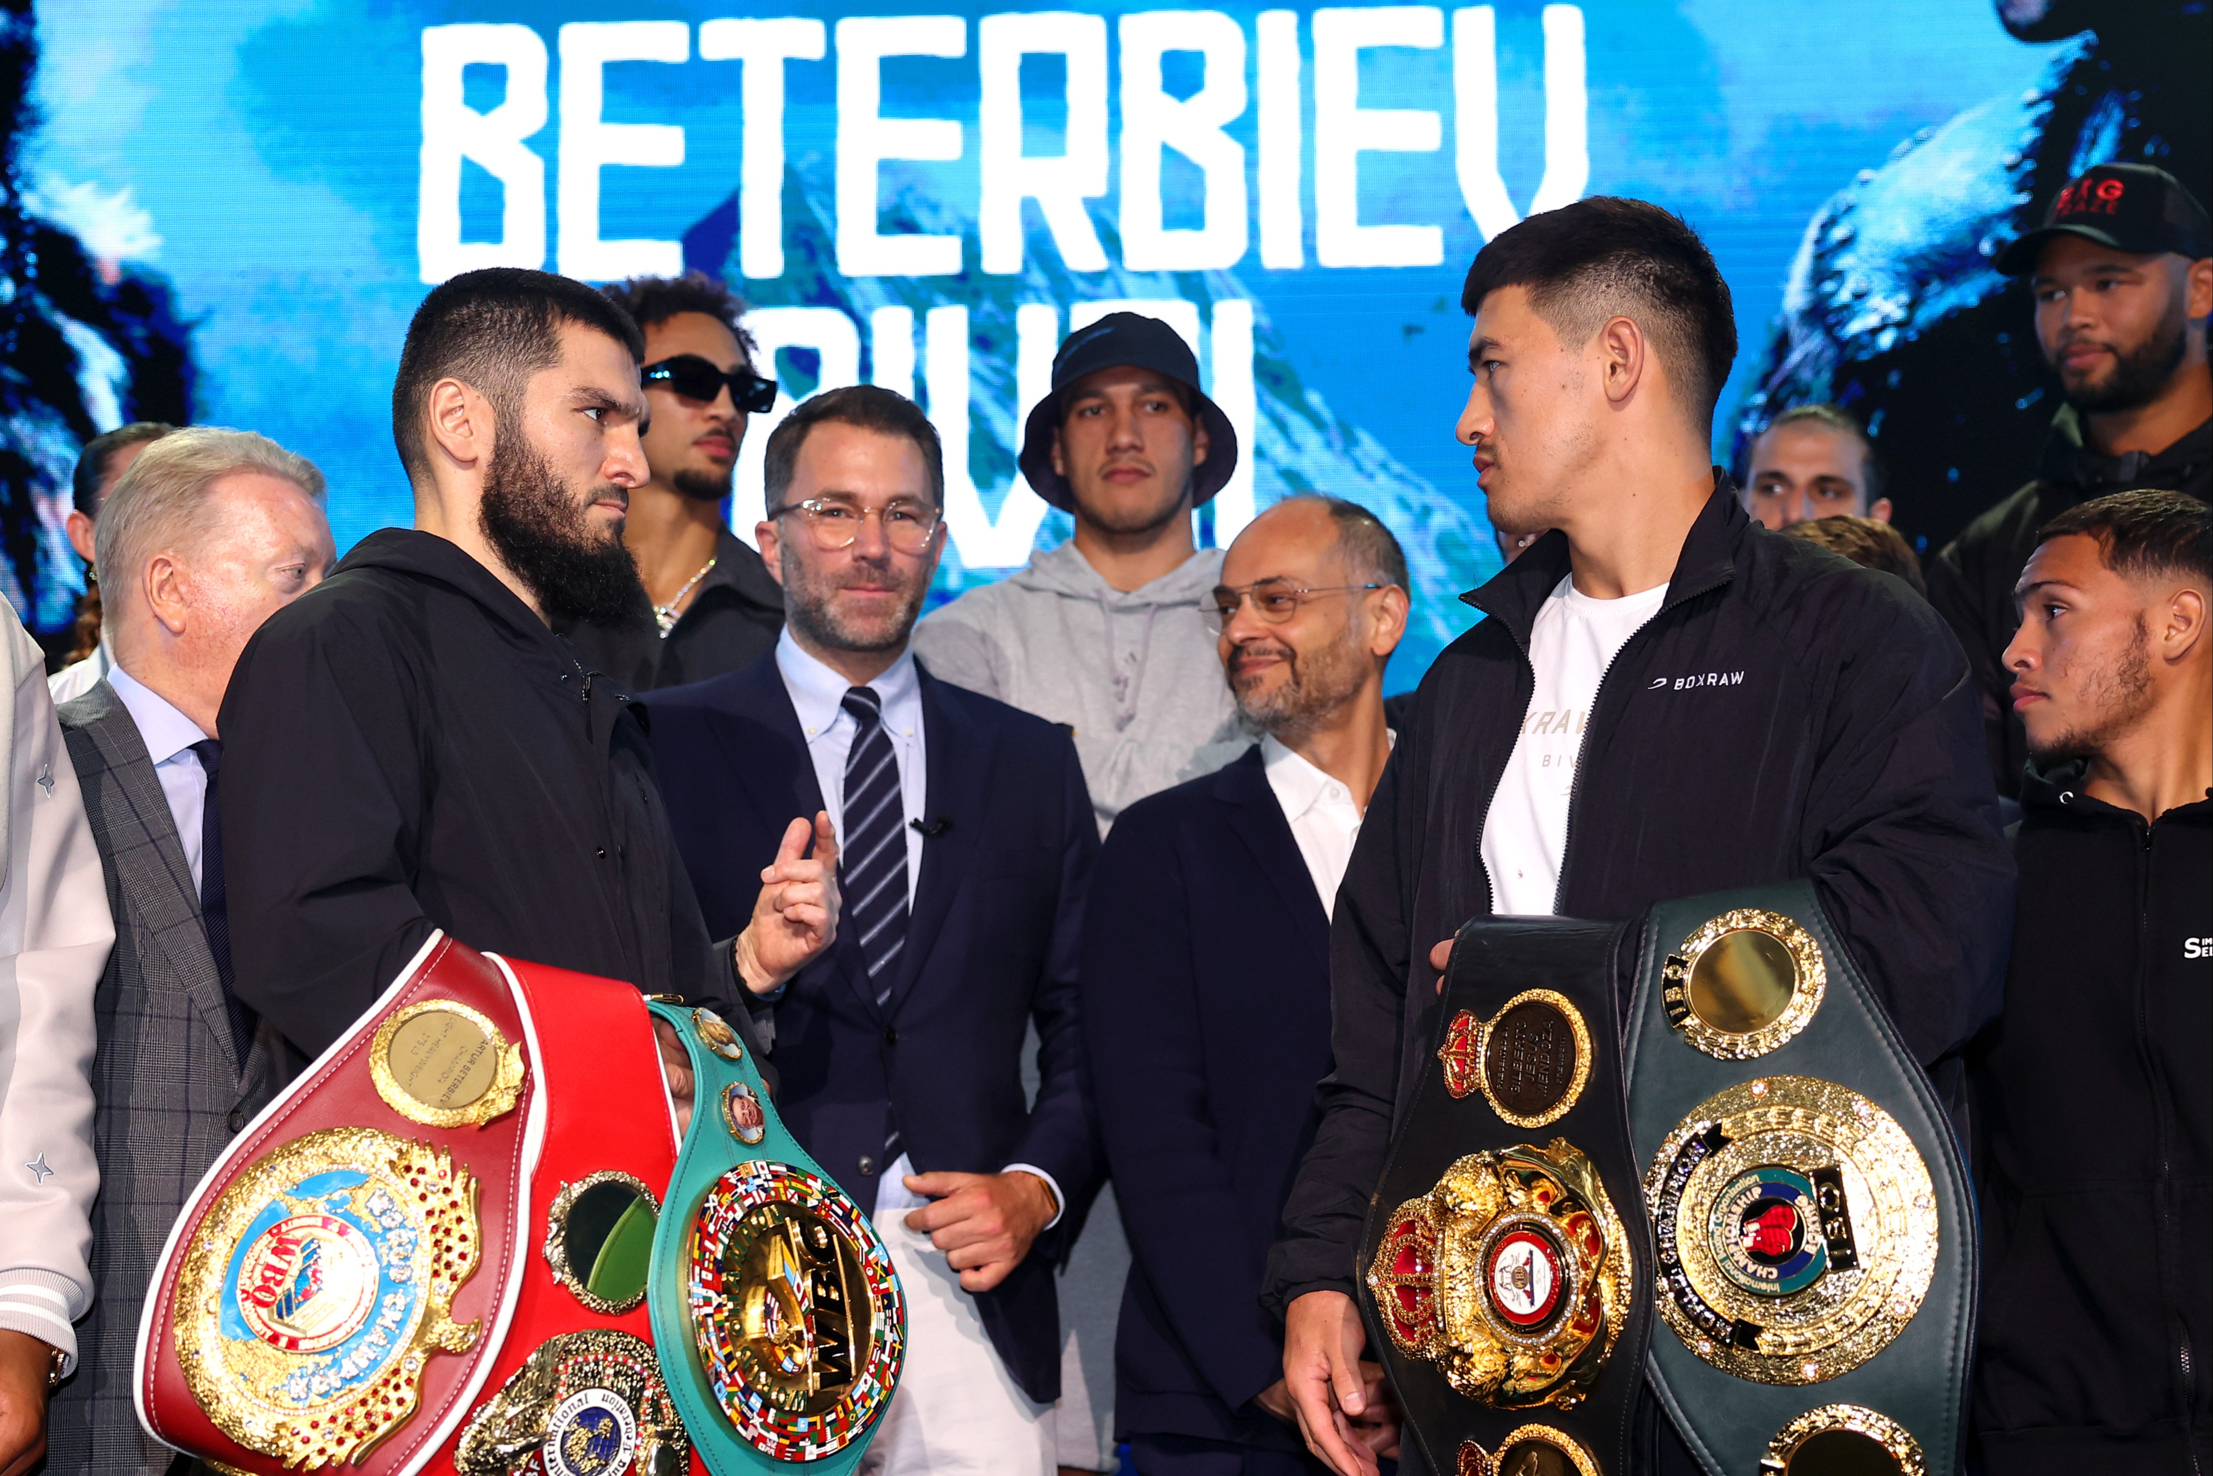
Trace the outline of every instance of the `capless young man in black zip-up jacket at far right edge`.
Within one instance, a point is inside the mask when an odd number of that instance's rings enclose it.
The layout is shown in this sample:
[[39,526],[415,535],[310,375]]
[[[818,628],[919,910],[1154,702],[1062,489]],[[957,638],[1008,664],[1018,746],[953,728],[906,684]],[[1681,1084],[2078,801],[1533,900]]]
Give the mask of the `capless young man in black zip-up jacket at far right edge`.
[[1976,1042],[1989,1476],[2213,1469],[2213,511],[2043,529],[2005,1014]]

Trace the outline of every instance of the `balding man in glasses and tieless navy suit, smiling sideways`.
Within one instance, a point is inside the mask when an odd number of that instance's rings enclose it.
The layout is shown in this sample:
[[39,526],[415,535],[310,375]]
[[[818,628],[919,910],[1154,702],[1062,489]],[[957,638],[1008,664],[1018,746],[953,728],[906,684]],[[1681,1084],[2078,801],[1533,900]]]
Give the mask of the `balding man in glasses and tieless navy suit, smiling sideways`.
[[[1268,737],[1122,812],[1084,929],[1084,1042],[1135,1257],[1115,1425],[1142,1476],[1306,1476],[1259,1288],[1330,1069],[1330,912],[1390,757],[1405,553],[1352,502],[1290,498],[1239,533],[1202,611]],[[1396,1416],[1372,1401],[1341,1434],[1394,1454]]]

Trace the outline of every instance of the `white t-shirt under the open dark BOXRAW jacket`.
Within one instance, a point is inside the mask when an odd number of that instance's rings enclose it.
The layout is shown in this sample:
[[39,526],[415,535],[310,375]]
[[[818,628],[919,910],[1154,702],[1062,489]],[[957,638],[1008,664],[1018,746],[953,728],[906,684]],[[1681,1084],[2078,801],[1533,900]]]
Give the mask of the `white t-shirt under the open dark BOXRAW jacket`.
[[1576,591],[1571,575],[1545,597],[1529,633],[1536,690],[1492,794],[1492,812],[1483,817],[1492,912],[1551,916],[1567,848],[1567,799],[1576,788],[1591,699],[1607,666],[1664,602],[1666,584],[1622,600],[1591,600]]

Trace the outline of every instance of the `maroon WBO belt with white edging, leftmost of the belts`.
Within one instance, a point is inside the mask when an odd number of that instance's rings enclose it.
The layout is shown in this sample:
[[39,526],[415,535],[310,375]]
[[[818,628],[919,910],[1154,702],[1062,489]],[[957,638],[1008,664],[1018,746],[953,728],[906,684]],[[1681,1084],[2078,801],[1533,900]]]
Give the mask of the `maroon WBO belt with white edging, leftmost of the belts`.
[[139,1321],[146,1430],[261,1476],[423,1469],[533,1250],[536,1058],[507,974],[432,934],[186,1202]]

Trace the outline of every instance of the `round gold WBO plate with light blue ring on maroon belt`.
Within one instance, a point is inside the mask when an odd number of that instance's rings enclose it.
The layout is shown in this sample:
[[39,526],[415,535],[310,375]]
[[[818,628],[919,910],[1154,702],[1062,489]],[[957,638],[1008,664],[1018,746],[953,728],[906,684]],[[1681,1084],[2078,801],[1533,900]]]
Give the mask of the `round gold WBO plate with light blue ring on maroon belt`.
[[246,1449],[359,1463],[414,1414],[434,1352],[474,1345],[454,1292],[476,1270],[476,1179],[376,1129],[323,1129],[246,1168],[177,1277],[177,1357]]

